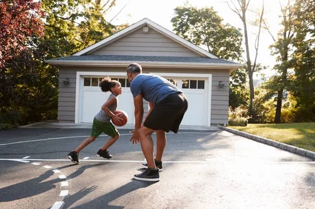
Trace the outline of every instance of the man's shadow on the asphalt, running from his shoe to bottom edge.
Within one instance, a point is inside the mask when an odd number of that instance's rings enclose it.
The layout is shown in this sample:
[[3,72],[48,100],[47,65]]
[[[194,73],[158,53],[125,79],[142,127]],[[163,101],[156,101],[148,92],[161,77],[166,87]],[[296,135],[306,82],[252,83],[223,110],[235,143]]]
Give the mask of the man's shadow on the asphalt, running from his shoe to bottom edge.
[[[87,203],[81,204],[80,206],[75,206],[72,208],[124,208],[124,206],[110,206],[110,202],[114,199],[117,199],[119,197],[122,197],[124,195],[127,195],[128,193],[131,193],[132,191],[136,191],[137,189],[145,188],[147,186],[151,186],[152,184],[155,184],[156,182],[141,182],[138,180],[131,180],[131,182],[115,189],[114,191],[110,191],[110,193],[107,193],[105,195],[102,195],[100,197],[97,197],[96,199],[92,199]],[[94,191],[96,188],[95,186],[91,186],[88,189],[82,189],[81,191],[78,191],[77,193],[71,195],[66,199],[64,208],[69,208],[71,205],[73,205],[76,201],[90,193],[91,191]]]

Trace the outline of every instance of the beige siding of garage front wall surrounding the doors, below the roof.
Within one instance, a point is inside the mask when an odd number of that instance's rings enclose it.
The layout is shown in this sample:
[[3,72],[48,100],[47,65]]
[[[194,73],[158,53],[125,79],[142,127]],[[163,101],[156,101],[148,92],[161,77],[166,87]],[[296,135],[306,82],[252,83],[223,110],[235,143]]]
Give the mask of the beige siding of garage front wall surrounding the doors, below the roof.
[[[84,68],[68,67],[60,68],[60,92],[58,103],[58,120],[75,121],[75,86],[77,71],[91,72],[125,72],[125,68]],[[211,99],[211,124],[227,124],[227,112],[229,105],[229,70],[205,70],[205,69],[173,69],[173,68],[144,68],[148,72],[180,72],[194,74],[212,74],[212,99]],[[68,77],[69,85],[64,85],[63,80]],[[218,87],[218,81],[223,81],[225,86]],[[144,115],[148,111],[148,104],[144,102]]]

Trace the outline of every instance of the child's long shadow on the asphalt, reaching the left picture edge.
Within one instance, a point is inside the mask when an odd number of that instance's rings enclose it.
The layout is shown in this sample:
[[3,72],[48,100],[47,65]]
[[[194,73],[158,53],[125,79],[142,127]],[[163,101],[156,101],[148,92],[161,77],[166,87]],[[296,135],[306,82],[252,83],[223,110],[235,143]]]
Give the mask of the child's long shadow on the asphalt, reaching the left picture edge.
[[[104,165],[101,163],[99,165]],[[83,173],[86,169],[90,167],[95,167],[99,165],[84,165],[79,167],[74,173],[67,176],[67,179],[75,178],[81,173]],[[75,164],[65,165],[63,167],[58,167],[57,169],[64,169],[66,167],[76,166]],[[55,184],[58,182],[62,182],[58,176],[55,176],[53,180],[45,181],[49,177],[53,176],[53,171],[49,170],[38,176],[37,178],[33,178],[31,180],[27,180],[25,182],[20,182],[17,184],[13,184],[10,186],[6,186],[0,189],[0,202],[2,201],[13,201],[17,199],[23,199],[26,197],[32,197],[34,195],[39,195],[41,193],[45,193],[50,191],[51,189],[55,189]],[[45,181],[45,182],[44,182]],[[33,188],[33,189],[31,189]]]

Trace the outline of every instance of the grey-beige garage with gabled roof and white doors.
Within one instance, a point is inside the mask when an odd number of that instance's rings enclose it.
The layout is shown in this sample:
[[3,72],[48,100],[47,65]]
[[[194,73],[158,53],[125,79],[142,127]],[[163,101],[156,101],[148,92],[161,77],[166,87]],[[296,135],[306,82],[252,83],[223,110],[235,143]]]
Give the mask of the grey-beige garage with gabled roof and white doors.
[[[126,68],[136,62],[144,73],[163,76],[181,89],[188,98],[188,111],[182,126],[198,128],[227,124],[229,74],[242,65],[199,48],[144,18],[82,51],[46,61],[58,66],[58,121],[91,123],[110,93],[101,92],[99,81],[105,76],[123,85],[118,109],[134,124],[134,102]],[[144,103],[144,115],[148,111]]]

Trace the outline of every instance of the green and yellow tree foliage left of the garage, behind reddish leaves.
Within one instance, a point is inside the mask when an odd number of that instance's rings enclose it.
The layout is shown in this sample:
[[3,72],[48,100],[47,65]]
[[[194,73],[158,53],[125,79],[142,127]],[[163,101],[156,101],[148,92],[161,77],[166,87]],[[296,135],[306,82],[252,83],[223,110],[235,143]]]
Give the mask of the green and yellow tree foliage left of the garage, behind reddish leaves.
[[[12,50],[14,53],[6,60],[0,75],[0,119],[8,118],[5,115],[11,114],[19,116],[10,117],[12,120],[5,120],[8,122],[1,122],[2,124],[15,126],[57,118],[59,72],[58,68],[45,64],[44,60],[71,55],[110,36],[115,27],[107,23],[103,16],[115,2],[1,1],[1,23],[2,20],[6,24],[8,20],[14,21],[16,17],[20,17],[17,18],[16,24],[7,24],[4,27],[10,29],[12,36],[21,38],[16,40],[21,47]],[[19,6],[18,3],[25,3],[23,6],[26,10],[15,10]],[[8,8],[12,12],[10,16],[5,12]],[[3,14],[7,16],[3,18]],[[40,24],[44,27],[40,27]],[[1,31],[2,26],[0,25]],[[44,29],[45,34],[42,33]],[[21,33],[21,36],[18,33]],[[3,42],[5,40],[0,39],[2,48]]]

